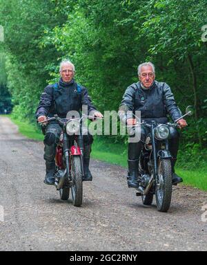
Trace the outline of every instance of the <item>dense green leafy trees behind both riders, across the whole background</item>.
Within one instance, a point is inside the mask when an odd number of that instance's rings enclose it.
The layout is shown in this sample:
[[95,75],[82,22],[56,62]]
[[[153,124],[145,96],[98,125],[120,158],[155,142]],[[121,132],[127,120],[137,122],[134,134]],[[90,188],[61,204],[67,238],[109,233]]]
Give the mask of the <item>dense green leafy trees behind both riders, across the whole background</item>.
[[137,82],[137,65],[150,60],[181,111],[195,106],[182,134],[184,152],[191,151],[188,143],[204,149],[206,5],[206,0],[0,0],[5,32],[0,55],[6,60],[0,80],[12,94],[13,115],[34,121],[39,95],[59,78],[63,58],[75,64],[77,81],[88,88],[97,109],[117,111],[126,87]]

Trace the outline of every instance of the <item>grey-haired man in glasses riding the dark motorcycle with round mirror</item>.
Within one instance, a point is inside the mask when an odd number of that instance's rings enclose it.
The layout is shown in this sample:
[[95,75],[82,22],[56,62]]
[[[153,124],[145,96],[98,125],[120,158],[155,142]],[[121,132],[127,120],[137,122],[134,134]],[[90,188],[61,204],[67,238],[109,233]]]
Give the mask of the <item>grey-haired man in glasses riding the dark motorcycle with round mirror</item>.
[[[155,80],[155,66],[151,62],[144,62],[137,68],[139,82],[131,84],[126,89],[121,104],[126,104],[129,111],[141,111],[141,120],[156,120],[159,123],[168,122],[167,114],[173,121],[181,117],[170,86]],[[135,125],[136,119],[131,115],[126,116],[127,125]],[[186,127],[186,120],[177,122],[180,127]],[[138,161],[147,131],[141,127],[141,140],[128,144],[128,187],[136,188]],[[176,185],[183,180],[175,174],[175,162],[179,147],[179,134],[177,129],[170,127],[170,152],[172,154],[172,184]]]

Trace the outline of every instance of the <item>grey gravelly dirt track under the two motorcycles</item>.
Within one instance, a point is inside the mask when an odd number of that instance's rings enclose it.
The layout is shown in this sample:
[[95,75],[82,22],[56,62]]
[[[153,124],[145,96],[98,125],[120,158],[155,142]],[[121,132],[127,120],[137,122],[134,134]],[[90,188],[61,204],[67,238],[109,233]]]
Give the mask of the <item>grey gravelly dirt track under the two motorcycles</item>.
[[0,147],[0,250],[207,250],[206,192],[177,186],[168,213],[157,212],[127,187],[126,169],[92,161],[93,181],[75,208],[43,183],[43,143],[6,117]]

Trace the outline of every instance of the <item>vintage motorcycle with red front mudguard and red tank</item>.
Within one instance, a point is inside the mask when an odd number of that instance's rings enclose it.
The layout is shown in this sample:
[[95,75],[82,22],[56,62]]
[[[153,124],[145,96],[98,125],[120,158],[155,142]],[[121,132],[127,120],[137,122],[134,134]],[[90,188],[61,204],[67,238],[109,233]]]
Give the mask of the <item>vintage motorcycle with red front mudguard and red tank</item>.
[[57,145],[55,163],[55,187],[59,190],[62,200],[68,200],[70,189],[72,194],[72,203],[75,206],[81,206],[83,200],[83,118],[92,119],[92,116],[82,116],[81,118],[59,118],[55,115],[39,124],[45,125],[45,122],[55,120],[62,128],[59,143]]

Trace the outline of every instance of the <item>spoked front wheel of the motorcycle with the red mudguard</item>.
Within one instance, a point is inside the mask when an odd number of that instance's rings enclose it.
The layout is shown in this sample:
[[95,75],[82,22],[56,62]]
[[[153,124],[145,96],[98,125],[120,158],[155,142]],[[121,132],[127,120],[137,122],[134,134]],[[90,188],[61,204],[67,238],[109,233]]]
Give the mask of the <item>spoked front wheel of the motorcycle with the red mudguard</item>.
[[71,176],[72,176],[72,203],[79,207],[83,200],[83,183],[81,171],[81,158],[80,156],[72,156],[71,161]]

